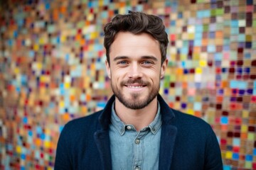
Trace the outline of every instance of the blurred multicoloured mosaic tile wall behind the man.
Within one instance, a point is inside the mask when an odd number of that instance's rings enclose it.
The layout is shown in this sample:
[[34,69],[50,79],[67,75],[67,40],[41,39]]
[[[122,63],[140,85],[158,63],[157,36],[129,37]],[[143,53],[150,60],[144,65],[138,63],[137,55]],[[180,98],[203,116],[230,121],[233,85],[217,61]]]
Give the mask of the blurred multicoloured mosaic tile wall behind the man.
[[212,125],[225,170],[256,169],[253,0],[1,1],[0,169],[53,169],[63,125],[105,106],[102,27],[128,10],[166,25],[169,106]]

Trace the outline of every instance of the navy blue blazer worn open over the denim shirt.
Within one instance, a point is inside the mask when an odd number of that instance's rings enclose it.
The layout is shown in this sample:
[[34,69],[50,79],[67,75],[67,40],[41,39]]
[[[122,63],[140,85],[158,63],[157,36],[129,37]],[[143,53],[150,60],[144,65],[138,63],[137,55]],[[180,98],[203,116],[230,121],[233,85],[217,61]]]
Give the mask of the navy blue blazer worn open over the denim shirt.
[[[163,121],[159,169],[223,169],[220,147],[210,125],[169,108],[160,95],[157,98]],[[58,140],[55,170],[112,169],[108,130],[113,101],[114,96],[104,110],[65,125]]]

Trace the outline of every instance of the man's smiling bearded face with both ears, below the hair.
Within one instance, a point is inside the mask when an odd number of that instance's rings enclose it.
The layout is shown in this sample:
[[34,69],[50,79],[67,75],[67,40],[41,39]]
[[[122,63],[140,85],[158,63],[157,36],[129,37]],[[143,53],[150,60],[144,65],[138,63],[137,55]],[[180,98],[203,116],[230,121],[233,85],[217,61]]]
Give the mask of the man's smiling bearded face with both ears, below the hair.
[[161,64],[159,42],[146,33],[117,34],[110,47],[108,77],[114,95],[124,106],[141,109],[156,98],[167,60]]

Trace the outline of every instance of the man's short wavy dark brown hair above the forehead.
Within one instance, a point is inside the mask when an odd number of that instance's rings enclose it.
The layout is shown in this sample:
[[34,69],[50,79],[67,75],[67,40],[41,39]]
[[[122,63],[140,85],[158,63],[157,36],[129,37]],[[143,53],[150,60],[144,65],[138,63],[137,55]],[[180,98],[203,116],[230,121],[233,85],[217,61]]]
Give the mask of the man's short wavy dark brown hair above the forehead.
[[161,18],[142,12],[129,11],[128,14],[115,16],[110,23],[104,27],[104,46],[106,48],[107,62],[110,64],[110,46],[114,42],[117,33],[124,31],[134,35],[148,33],[159,41],[161,51],[161,64],[166,60],[168,35]]

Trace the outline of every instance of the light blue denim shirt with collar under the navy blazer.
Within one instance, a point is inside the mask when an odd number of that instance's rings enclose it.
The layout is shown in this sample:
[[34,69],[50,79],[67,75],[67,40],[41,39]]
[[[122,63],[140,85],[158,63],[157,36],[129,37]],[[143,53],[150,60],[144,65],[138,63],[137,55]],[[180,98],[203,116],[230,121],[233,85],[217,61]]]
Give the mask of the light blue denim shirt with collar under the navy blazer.
[[110,125],[110,149],[113,170],[159,169],[161,137],[160,105],[154,120],[137,132],[133,125],[125,125],[114,111]]

